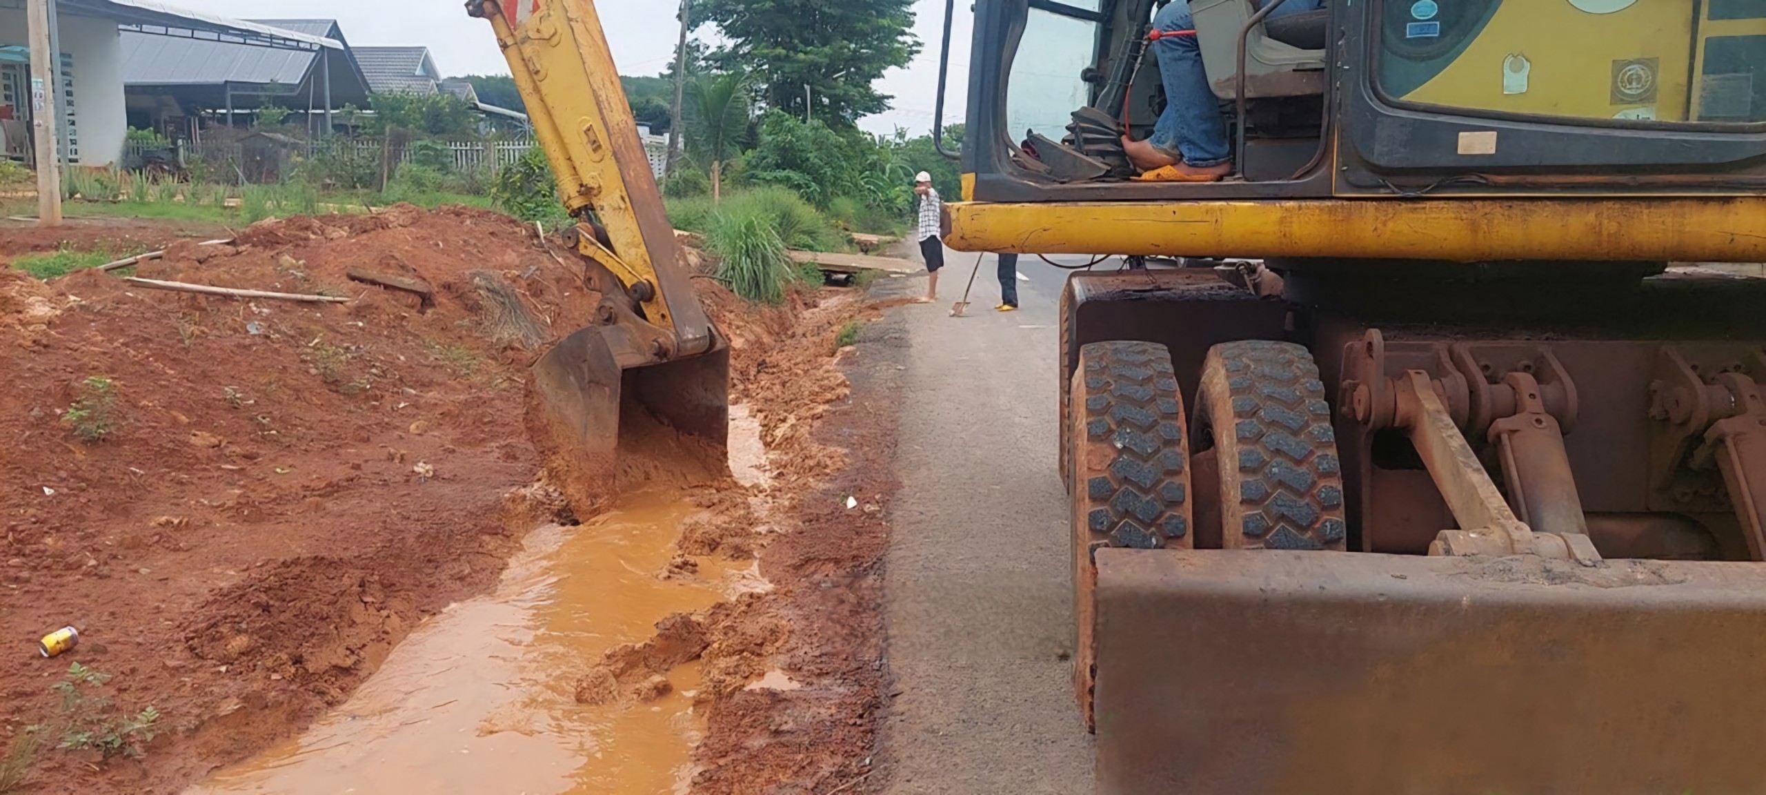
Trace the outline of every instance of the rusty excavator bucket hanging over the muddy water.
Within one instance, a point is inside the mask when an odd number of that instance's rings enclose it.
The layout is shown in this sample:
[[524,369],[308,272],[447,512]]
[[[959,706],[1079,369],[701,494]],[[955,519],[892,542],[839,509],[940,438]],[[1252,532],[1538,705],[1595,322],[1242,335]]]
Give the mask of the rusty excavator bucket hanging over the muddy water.
[[606,327],[583,329],[532,367],[528,435],[579,518],[618,496],[622,461],[639,450],[657,458],[666,447],[685,456],[675,463],[710,473],[729,468],[729,348],[653,362],[623,339]]

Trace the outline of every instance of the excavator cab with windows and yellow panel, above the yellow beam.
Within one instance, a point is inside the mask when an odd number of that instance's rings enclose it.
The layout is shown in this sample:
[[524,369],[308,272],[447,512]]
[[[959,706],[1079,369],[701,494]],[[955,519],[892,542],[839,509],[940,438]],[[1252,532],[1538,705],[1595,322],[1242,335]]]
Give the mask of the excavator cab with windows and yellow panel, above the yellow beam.
[[1766,7],[1747,0],[1326,0],[1282,14],[1286,2],[1190,2],[1233,131],[1227,186],[1121,184],[1132,171],[1118,136],[1146,138],[1166,106],[1148,41],[1164,2],[978,2],[964,168],[977,198],[1377,196],[1498,171],[1713,177],[1757,173],[1766,152]]

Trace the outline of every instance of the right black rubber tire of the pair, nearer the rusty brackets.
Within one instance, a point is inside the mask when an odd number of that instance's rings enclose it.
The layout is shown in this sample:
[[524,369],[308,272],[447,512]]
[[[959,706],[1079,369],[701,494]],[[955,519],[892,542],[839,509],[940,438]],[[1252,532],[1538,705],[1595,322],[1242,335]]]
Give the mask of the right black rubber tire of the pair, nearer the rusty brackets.
[[1197,428],[1213,431],[1220,465],[1222,546],[1342,551],[1342,463],[1312,353],[1261,339],[1217,344],[1201,392]]

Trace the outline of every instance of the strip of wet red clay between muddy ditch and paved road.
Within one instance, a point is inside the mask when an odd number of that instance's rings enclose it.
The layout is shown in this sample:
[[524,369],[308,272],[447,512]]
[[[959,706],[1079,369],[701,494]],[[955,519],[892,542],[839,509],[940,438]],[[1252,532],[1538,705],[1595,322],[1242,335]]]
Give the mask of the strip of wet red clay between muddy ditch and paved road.
[[[577,680],[577,700],[641,703],[646,682],[698,659],[708,730],[694,793],[832,791],[867,772],[883,684],[878,567],[895,493],[894,412],[881,390],[849,389],[834,350],[872,307],[849,292],[826,292],[811,309],[802,295],[761,313],[715,292],[706,304],[743,343],[733,401],[759,419],[774,481],[701,488],[705,511],[683,523],[678,546],[683,558],[758,555],[774,590],[659,622],[653,640],[608,652]],[[772,670],[802,687],[749,687]]]

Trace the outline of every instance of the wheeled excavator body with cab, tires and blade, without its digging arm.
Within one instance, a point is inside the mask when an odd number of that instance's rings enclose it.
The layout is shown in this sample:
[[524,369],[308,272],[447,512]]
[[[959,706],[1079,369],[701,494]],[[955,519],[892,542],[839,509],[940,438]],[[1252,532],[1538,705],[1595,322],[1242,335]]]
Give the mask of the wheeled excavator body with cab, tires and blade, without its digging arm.
[[1766,4],[1173,2],[1229,178],[1130,180],[1160,2],[978,0],[945,205],[1125,263],[1058,337],[1098,791],[1766,790]]

